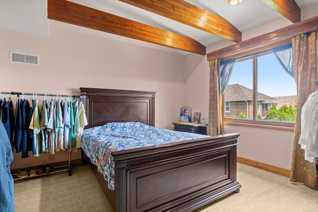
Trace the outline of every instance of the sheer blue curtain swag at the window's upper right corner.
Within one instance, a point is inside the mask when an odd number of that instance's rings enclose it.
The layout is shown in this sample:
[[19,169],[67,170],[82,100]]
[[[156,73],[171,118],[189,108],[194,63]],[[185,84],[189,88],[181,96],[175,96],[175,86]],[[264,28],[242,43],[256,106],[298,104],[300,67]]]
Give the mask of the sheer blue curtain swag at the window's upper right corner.
[[292,45],[277,47],[273,52],[283,69],[294,78]]

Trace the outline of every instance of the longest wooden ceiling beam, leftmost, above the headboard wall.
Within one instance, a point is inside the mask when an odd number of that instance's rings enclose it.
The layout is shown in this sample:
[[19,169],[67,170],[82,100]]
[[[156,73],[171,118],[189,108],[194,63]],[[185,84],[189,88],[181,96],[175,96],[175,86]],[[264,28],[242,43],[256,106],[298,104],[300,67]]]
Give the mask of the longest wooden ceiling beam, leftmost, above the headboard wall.
[[48,18],[199,55],[206,54],[206,47],[192,38],[67,0],[48,0]]

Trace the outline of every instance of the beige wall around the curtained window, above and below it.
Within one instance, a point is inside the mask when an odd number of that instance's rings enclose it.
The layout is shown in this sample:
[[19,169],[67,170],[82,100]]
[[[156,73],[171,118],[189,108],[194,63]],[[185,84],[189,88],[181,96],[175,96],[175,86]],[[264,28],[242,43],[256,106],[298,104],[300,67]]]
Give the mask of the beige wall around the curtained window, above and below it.
[[[318,15],[318,4],[302,9],[302,20]],[[268,22],[262,26],[245,31],[242,33],[243,40],[282,28],[291,24],[289,20],[282,17],[277,20]],[[207,52],[224,48],[234,44],[231,41],[222,41],[207,47]],[[318,47],[318,45],[317,45]],[[194,58],[194,59],[193,59]],[[199,61],[200,59],[200,61]],[[193,62],[192,62],[193,61]],[[206,57],[199,58],[191,55],[186,56],[186,64],[196,64],[192,70],[185,66],[186,74],[186,91],[187,98],[186,104],[192,107],[193,111],[208,114],[208,98],[209,98],[209,66]],[[198,68],[199,67],[199,68]],[[202,70],[204,69],[204,70]],[[193,81],[206,82],[206,84],[194,86]],[[201,98],[196,100],[197,95],[200,93]],[[190,95],[189,95],[190,94]],[[277,130],[264,130],[257,128],[247,128],[238,126],[225,126],[225,133],[239,133],[238,156],[248,158],[251,160],[259,161],[262,163],[274,165],[277,167],[290,169],[294,133],[277,131]]]

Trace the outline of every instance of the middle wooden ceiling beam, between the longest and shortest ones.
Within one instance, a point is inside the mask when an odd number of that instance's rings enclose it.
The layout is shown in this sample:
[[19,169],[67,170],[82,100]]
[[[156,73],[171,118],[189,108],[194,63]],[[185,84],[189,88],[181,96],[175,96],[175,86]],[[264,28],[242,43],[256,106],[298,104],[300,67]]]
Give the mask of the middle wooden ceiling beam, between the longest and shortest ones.
[[184,0],[120,0],[221,38],[240,42],[242,33],[226,19]]

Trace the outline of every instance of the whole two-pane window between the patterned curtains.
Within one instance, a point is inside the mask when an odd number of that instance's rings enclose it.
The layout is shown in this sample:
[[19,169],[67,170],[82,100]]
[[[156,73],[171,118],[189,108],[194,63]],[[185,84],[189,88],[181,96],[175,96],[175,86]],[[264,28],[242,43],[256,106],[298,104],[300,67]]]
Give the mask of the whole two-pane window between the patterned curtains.
[[234,64],[224,101],[225,121],[293,126],[296,82],[272,51],[240,58]]

